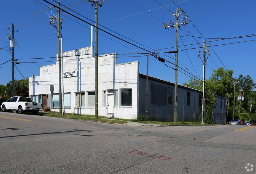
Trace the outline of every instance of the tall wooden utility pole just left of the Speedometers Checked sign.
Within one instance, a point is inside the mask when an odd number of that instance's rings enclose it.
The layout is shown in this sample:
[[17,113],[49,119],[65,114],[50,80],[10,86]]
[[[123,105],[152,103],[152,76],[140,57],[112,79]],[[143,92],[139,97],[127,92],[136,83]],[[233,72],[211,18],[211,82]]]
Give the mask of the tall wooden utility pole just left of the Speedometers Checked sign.
[[58,61],[59,61],[59,108],[60,108],[60,114],[62,113],[62,93],[61,93],[61,61],[60,61],[60,1],[58,2]]

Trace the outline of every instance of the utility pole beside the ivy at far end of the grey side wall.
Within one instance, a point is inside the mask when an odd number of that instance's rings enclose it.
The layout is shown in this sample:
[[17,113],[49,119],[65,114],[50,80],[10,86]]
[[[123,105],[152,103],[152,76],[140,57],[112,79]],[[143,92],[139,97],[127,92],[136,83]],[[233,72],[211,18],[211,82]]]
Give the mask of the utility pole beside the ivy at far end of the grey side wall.
[[[201,51],[199,50],[199,57],[200,57],[200,53]],[[204,115],[205,115],[205,65],[206,65],[206,61],[210,55],[209,53],[209,49],[208,49],[208,56],[206,59],[206,40],[204,40],[204,48],[203,48],[203,55],[204,55],[204,60],[200,59],[203,61],[203,100],[202,100],[202,121],[201,124],[204,123]]]

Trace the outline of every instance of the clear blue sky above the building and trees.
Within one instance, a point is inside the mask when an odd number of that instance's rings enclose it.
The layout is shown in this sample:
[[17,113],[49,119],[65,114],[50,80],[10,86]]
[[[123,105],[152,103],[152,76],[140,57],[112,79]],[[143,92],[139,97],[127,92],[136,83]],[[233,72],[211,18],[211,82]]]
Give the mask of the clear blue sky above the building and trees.
[[[62,0],[60,3],[70,7],[70,9],[84,17],[66,9],[68,12],[93,24],[92,21],[95,21],[95,7],[92,8],[92,5],[86,1]],[[179,50],[183,51],[178,52],[178,65],[180,66],[178,68],[178,84],[187,82],[192,75],[202,78],[203,63],[198,57],[198,48],[203,46],[204,39],[202,37],[207,38],[210,46],[212,46],[209,47],[210,56],[207,59],[206,78],[209,78],[213,73],[212,70],[225,66],[228,70],[233,70],[233,77],[238,77],[240,74],[244,76],[250,75],[256,82],[255,41],[251,41],[256,39],[252,35],[256,33],[255,22],[253,21],[256,1],[173,1],[189,17],[189,19],[187,18],[188,24],[186,26],[181,25],[179,30]],[[52,0],[49,0],[49,2],[56,4]],[[20,72],[15,68],[15,79],[17,80],[24,79],[23,76],[26,78],[31,77],[32,74],[35,76],[40,75],[40,66],[55,64],[56,58],[33,59],[55,57],[58,53],[57,37],[55,37],[55,30],[50,25],[48,16],[48,14],[57,15],[57,13],[53,8],[51,12],[46,6],[49,7],[51,5],[43,0],[1,2],[0,47],[9,51],[7,34],[12,36],[10,31],[12,30],[12,23],[14,23],[14,30],[18,30],[18,32],[15,32],[15,42],[17,42],[15,59],[18,59],[17,62],[21,63],[17,64],[17,69]],[[60,5],[60,8],[65,9],[62,5]],[[168,51],[175,50],[175,28],[164,29],[163,26],[163,22],[170,24],[170,20],[176,21],[172,12],[176,13],[176,5],[170,0],[105,0],[103,1],[103,7],[98,7],[98,23],[122,36],[101,26],[99,28],[143,49],[158,53],[160,57],[175,64],[175,54],[168,54]],[[181,22],[183,22],[182,17],[186,16],[180,14],[179,20]],[[90,46],[90,25],[65,12],[61,13],[61,19],[63,19],[63,52]],[[208,39],[232,38],[245,35],[252,35],[253,37],[224,40]],[[188,46],[184,47],[183,44]],[[93,45],[95,45],[95,42]],[[147,53],[143,49],[132,46],[99,30],[99,53]],[[187,51],[184,49],[187,49]],[[12,55],[7,50],[0,50],[0,64],[12,59]],[[133,57],[133,55],[119,55],[118,63],[139,61],[140,73],[146,74],[146,54],[134,56],[136,57]],[[153,56],[149,56],[149,58],[150,76],[174,82],[173,64],[166,62],[166,65],[169,66],[167,67]],[[12,80],[11,61],[0,65],[0,67],[0,84],[6,85],[8,81]]]

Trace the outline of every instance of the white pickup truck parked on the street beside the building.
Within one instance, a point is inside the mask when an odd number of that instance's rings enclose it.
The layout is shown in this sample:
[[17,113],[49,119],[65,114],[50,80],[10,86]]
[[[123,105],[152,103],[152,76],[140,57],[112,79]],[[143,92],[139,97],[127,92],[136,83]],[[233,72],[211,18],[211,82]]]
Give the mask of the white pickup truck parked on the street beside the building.
[[22,114],[23,111],[33,112],[34,115],[37,115],[39,111],[42,110],[41,103],[32,102],[31,98],[28,97],[11,97],[7,102],[3,102],[1,105],[2,111],[16,111],[19,114]]

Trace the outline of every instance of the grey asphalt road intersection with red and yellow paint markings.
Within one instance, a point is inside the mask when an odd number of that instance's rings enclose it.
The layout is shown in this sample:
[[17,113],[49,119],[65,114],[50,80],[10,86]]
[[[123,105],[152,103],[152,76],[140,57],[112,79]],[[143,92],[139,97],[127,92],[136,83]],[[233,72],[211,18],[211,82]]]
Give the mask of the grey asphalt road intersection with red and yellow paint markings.
[[255,140],[254,126],[138,127],[0,112],[0,173],[256,173]]

